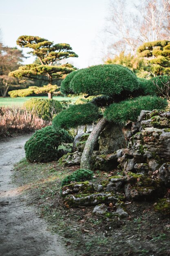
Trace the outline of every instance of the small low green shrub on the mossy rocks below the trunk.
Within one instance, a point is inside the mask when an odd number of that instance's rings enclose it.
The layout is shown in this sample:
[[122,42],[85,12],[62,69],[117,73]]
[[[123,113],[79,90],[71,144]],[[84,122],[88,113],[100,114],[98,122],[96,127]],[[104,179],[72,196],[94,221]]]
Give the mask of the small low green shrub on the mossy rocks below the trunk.
[[93,178],[93,171],[90,170],[84,170],[79,169],[77,171],[74,171],[71,175],[68,175],[62,180],[62,186],[70,184],[71,181],[86,181],[91,180]]

